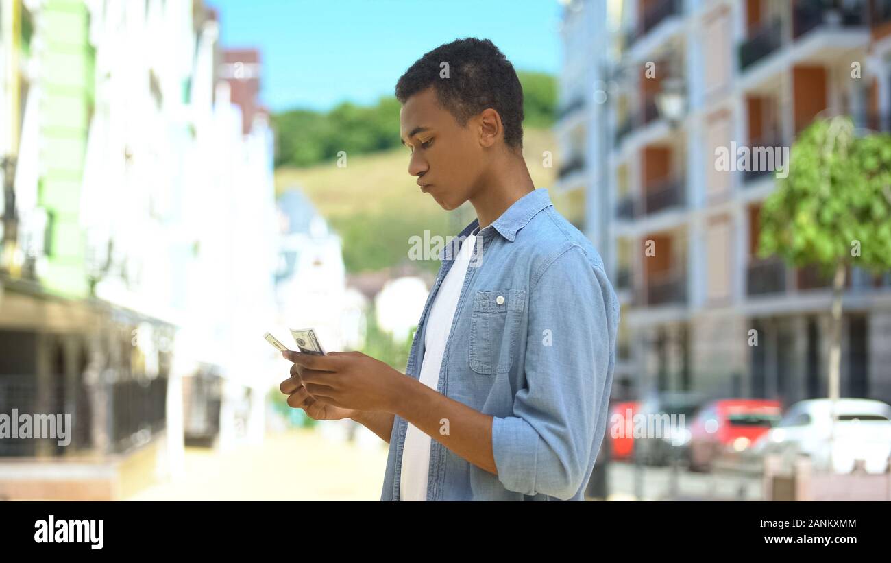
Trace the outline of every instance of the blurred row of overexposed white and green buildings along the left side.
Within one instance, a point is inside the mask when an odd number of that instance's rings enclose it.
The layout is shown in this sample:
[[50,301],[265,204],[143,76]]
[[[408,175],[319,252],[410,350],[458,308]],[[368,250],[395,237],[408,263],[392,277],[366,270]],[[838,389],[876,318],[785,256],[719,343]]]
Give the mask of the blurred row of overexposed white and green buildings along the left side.
[[181,471],[186,435],[262,437],[276,249],[259,57],[227,54],[200,0],[0,10],[0,412],[74,423],[69,446],[0,442],[16,458],[0,496],[118,498]]

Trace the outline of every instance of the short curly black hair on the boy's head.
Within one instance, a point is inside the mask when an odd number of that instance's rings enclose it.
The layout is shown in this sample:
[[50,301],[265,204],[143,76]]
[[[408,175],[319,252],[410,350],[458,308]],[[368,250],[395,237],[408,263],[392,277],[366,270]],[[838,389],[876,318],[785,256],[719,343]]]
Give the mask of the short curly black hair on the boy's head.
[[[448,78],[440,78],[448,63]],[[466,37],[425,53],[396,82],[401,103],[433,86],[437,100],[461,126],[486,108],[501,116],[504,143],[523,148],[523,87],[511,61],[488,39]]]

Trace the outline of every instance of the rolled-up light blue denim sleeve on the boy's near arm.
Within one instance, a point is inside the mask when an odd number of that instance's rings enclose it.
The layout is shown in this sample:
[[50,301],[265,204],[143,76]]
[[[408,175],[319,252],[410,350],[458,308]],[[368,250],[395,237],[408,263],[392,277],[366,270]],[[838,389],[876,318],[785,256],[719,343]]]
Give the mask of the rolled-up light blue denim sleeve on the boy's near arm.
[[563,500],[584,485],[612,370],[617,303],[581,247],[562,250],[529,290],[526,386],[513,416],[495,417],[498,479],[511,491]]

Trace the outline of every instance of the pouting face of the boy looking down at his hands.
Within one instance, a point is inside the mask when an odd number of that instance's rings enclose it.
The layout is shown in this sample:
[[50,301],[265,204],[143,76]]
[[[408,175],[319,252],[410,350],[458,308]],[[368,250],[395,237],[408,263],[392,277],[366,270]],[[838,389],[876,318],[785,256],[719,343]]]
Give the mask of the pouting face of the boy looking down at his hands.
[[432,86],[410,96],[399,111],[399,134],[412,151],[408,173],[446,210],[459,208],[477,190],[485,163],[477,121],[460,126]]

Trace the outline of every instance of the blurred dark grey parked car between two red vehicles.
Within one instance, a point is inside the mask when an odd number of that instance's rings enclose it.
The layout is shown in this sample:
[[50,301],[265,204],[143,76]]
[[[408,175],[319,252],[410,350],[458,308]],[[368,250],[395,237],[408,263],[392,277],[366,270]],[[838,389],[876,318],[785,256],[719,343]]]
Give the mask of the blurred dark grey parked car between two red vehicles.
[[[657,466],[668,465],[675,457],[686,457],[689,426],[701,404],[702,396],[692,392],[664,392],[643,400],[634,418],[646,420],[649,429],[646,437],[635,435],[634,456],[639,456],[645,465]],[[665,422],[669,422],[667,427]],[[652,430],[655,432],[650,434]]]

